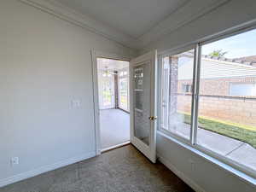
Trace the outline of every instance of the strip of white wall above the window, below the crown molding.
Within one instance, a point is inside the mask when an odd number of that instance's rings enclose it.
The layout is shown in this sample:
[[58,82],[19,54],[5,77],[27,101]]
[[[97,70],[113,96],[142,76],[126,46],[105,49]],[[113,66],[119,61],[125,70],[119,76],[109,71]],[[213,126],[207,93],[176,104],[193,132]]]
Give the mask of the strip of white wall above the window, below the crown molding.
[[141,53],[148,50],[158,51],[172,49],[197,39],[211,36],[230,27],[241,25],[249,20],[256,19],[255,0],[231,0],[218,9],[212,10],[189,24],[178,28],[176,31],[166,34],[157,41],[148,44],[141,49]]

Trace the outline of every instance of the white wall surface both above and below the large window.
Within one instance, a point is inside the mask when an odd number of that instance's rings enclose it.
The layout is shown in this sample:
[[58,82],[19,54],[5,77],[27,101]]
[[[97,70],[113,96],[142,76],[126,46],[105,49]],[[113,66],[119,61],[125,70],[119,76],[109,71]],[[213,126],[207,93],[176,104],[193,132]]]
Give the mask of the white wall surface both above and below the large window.
[[[231,26],[239,25],[248,20],[256,19],[256,1],[254,0],[233,0],[223,7],[212,11],[209,15],[195,20],[187,26],[166,35],[157,42],[148,44],[141,53],[150,49],[172,49],[188,42],[201,39],[216,32],[225,30]],[[253,192],[256,187],[248,184],[232,173],[224,171],[217,165],[210,163],[200,155],[193,154],[181,145],[172,142],[170,139],[157,135],[157,153],[166,165],[189,179],[206,192]],[[195,161],[195,171],[192,172],[189,160]]]

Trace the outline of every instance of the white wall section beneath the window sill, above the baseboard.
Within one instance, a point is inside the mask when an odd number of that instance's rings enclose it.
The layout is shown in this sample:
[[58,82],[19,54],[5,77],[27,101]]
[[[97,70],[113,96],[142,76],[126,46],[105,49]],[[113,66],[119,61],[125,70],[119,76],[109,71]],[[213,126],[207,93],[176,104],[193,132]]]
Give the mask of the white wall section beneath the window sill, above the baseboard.
[[161,162],[199,192],[255,192],[253,183],[245,182],[161,134],[157,135],[157,154]]

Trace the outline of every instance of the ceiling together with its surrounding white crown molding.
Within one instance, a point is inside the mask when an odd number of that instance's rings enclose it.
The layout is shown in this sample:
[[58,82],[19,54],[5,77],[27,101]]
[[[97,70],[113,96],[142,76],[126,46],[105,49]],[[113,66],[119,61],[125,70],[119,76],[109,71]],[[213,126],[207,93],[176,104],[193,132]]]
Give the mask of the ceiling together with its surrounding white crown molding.
[[229,0],[22,0],[141,49]]

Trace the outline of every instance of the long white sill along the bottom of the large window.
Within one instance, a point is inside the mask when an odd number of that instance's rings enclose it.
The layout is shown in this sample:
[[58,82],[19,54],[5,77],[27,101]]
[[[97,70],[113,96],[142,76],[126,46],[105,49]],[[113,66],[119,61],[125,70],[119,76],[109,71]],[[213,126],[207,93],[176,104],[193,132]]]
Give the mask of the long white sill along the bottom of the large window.
[[236,177],[239,177],[242,181],[253,185],[253,187],[256,186],[256,179],[251,176],[248,176],[246,173],[236,170],[234,167],[229,166],[229,165],[225,164],[224,162],[217,160],[217,159],[213,158],[212,156],[205,154],[205,153],[201,152],[200,150],[189,146],[189,144],[187,144],[187,143],[183,143],[183,142],[179,141],[177,138],[168,136],[166,133],[164,133],[162,131],[158,130],[157,133],[160,134],[160,136],[166,137],[167,139],[171,140],[173,143],[177,143],[177,144],[181,145],[183,148],[188,149],[192,153],[195,153],[195,154],[201,156],[208,162],[218,165],[219,167],[224,169],[224,171],[231,172]]

